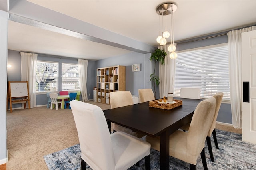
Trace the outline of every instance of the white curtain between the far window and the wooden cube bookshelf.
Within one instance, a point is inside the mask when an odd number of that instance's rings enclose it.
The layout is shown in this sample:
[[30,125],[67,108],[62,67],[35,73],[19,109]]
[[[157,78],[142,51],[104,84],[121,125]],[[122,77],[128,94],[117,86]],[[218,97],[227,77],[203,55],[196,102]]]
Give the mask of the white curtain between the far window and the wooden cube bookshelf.
[[78,59],[78,71],[79,71],[79,77],[80,77],[80,88],[81,88],[82,101],[88,101],[87,87],[86,87],[87,66],[88,66],[87,60]]

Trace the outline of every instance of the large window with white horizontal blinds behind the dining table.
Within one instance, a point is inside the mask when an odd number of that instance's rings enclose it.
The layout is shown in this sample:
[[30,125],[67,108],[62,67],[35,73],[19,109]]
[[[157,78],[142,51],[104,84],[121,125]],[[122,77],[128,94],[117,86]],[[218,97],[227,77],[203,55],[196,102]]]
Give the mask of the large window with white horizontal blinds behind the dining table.
[[201,98],[223,92],[222,100],[230,101],[228,44],[212,45],[177,52],[174,95],[181,87],[198,87]]

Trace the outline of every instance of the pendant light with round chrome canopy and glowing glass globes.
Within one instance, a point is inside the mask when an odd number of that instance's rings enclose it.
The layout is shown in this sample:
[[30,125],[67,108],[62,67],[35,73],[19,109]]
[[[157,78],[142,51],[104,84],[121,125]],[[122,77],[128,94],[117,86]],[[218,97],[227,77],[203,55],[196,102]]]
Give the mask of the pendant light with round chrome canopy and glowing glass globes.
[[[156,13],[159,15],[159,36],[157,38],[157,42],[160,45],[165,45],[167,40],[166,38],[171,38],[170,41],[170,45],[168,47],[168,51],[171,52],[170,53],[170,58],[171,59],[176,59],[177,58],[177,53],[176,51],[176,46],[174,45],[174,31],[173,31],[173,13],[177,10],[177,5],[172,3],[172,2],[165,2],[163,4],[160,4],[157,8],[156,8]],[[167,24],[166,24],[166,16],[169,15],[171,16],[171,28],[170,28],[170,33],[167,31]],[[163,26],[162,26],[162,36],[160,34],[160,15],[162,15],[162,17],[165,15],[165,31],[163,30]],[[162,25],[163,23],[163,19],[162,19]]]

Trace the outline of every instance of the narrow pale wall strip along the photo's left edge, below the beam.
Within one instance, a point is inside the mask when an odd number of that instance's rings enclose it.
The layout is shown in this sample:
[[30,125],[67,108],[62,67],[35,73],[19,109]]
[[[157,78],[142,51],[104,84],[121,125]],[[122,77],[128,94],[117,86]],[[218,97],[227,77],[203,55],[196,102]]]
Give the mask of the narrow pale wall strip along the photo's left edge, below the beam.
[[0,10],[0,165],[8,161],[6,133],[8,12]]

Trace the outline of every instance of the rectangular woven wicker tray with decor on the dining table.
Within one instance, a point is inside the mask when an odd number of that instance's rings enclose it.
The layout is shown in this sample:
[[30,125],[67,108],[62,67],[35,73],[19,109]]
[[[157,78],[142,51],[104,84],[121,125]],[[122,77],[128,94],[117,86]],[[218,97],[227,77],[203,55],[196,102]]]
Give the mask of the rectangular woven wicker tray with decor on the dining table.
[[149,102],[149,107],[155,107],[155,108],[166,109],[166,110],[170,110],[181,105],[182,105],[182,100],[173,100],[172,102],[168,102],[166,101],[165,96],[163,99],[158,99],[158,100]]

